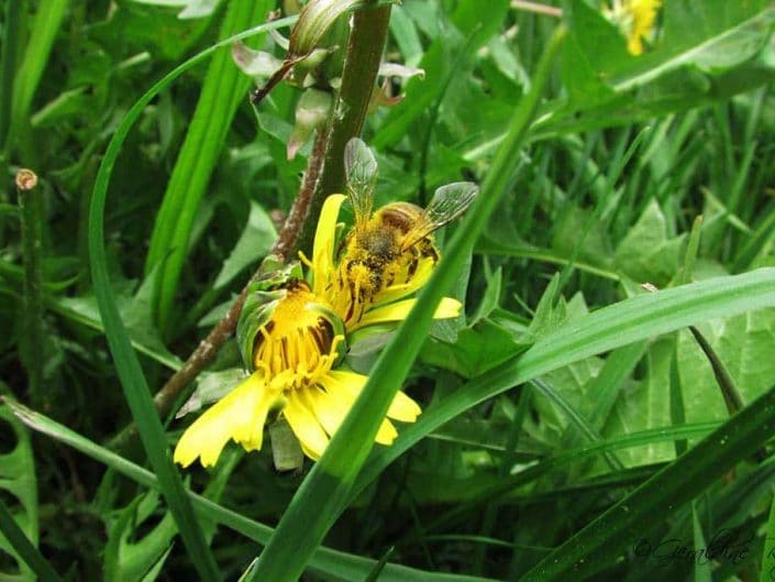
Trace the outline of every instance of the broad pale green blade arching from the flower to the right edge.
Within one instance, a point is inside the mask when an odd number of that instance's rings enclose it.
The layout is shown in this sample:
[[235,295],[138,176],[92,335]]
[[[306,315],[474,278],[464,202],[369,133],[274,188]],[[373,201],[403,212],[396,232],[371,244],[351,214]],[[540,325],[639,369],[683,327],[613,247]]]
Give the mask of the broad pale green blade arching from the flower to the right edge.
[[522,355],[473,378],[423,410],[418,421],[405,427],[390,447],[374,451],[342,509],[409,448],[487,398],[595,354],[700,321],[746,311],[755,318],[756,309],[772,306],[775,306],[775,268],[761,268],[639,295],[574,319],[539,340]]

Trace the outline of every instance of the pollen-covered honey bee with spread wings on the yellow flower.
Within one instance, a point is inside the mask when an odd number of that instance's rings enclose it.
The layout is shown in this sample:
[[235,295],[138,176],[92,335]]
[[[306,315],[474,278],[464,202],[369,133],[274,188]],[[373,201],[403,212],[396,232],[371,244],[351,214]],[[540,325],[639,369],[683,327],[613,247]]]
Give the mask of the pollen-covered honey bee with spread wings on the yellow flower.
[[430,275],[440,257],[433,232],[461,216],[478,187],[468,182],[449,184],[435,191],[428,208],[391,202],[372,213],[377,162],[363,141],[355,138],[347,143],[344,168],[355,223],[340,255],[343,278],[355,301],[379,303],[388,287]]

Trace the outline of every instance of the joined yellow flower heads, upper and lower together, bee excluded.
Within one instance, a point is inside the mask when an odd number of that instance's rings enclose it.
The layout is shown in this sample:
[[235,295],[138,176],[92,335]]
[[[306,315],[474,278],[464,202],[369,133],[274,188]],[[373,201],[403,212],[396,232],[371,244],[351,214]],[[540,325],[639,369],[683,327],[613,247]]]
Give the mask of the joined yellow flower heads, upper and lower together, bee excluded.
[[[434,266],[431,259],[420,260],[412,273],[395,273],[390,285],[362,300],[346,271],[336,264],[336,220],[344,199],[333,195],[325,200],[312,261],[302,256],[312,271],[312,287],[291,279],[281,289],[281,298],[255,337],[254,372],[188,427],[175,448],[175,462],[188,466],[200,459],[203,466],[214,465],[230,439],[247,451],[258,450],[272,414],[285,417],[305,454],[313,460],[323,454],[367,380],[337,367],[337,348],[345,337],[334,332],[334,320],[344,322],[350,339],[365,327],[406,319],[416,300],[406,297],[424,285]],[[447,297],[434,317],[456,317],[460,310],[460,301]],[[420,413],[418,404],[399,392],[387,416],[413,422]],[[396,436],[386,418],[375,440],[390,444]]]

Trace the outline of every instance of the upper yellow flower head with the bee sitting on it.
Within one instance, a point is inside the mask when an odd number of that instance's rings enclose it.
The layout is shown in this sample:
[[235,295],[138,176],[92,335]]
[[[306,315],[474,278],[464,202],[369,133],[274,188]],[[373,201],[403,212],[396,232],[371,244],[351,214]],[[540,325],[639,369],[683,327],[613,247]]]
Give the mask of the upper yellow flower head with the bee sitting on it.
[[[381,287],[375,295],[363,294],[356,270],[358,266],[345,261],[336,263],[336,220],[345,196],[334,194],[323,204],[314,235],[312,261],[302,256],[312,272],[313,293],[324,297],[333,311],[344,321],[347,334],[366,326],[400,321],[407,318],[416,299],[406,297],[420,289],[431,276],[435,261],[432,256],[420,256],[416,265],[390,265],[390,283]],[[350,268],[350,271],[348,271]],[[365,268],[365,267],[363,267]],[[355,273],[354,273],[355,271]],[[445,319],[457,317],[461,303],[444,297],[433,317]]]

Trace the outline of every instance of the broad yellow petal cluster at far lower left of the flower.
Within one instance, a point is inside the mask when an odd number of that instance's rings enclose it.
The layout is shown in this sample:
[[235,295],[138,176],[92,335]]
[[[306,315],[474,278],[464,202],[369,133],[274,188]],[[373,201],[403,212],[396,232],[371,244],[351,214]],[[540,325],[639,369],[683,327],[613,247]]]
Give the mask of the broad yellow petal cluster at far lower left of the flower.
[[272,402],[263,375],[253,373],[186,429],[175,462],[188,466],[200,457],[203,466],[214,465],[230,438],[248,451],[261,449]]

